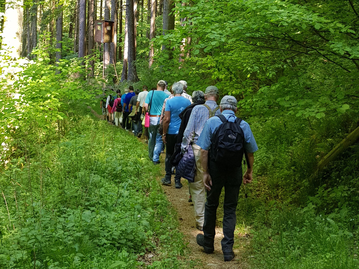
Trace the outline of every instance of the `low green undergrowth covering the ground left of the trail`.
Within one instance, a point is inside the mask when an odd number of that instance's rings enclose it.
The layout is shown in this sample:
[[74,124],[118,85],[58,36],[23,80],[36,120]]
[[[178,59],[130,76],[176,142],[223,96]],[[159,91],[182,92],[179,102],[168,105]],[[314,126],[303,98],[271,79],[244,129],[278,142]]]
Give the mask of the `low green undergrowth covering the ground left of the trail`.
[[159,167],[135,137],[80,114],[47,143],[22,137],[1,171],[0,268],[186,267]]

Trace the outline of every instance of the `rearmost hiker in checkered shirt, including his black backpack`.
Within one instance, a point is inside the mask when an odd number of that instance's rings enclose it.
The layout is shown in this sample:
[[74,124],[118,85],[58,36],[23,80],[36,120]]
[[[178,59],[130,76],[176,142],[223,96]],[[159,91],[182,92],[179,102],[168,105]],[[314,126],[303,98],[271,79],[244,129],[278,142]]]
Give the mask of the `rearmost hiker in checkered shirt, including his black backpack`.
[[237,100],[226,95],[220,102],[221,115],[210,118],[197,140],[201,147],[203,181],[207,189],[207,202],[203,235],[198,234],[197,244],[206,253],[214,251],[216,212],[219,196],[224,187],[223,235],[221,241],[224,261],[234,258],[234,229],[239,187],[242,183],[242,158],[247,160],[243,184],[252,181],[253,152],[258,150],[249,124],[235,116]]

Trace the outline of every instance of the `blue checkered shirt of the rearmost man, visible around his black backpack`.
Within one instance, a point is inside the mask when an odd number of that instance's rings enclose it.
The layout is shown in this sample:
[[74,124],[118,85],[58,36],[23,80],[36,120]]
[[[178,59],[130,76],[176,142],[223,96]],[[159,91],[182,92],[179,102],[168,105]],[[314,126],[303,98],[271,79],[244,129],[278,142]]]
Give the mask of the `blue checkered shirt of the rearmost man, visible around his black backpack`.
[[[230,122],[234,122],[236,120],[236,117],[230,117],[230,115],[234,115],[234,112],[232,110],[224,110],[222,112],[222,115],[224,115],[224,117]],[[214,136],[221,124],[222,121],[219,117],[212,117],[208,119],[196,144],[204,150],[209,150],[209,148],[211,147],[211,143],[214,140]],[[258,146],[251,131],[251,127],[249,127],[249,124],[245,121],[241,121],[239,127],[242,128],[244,133],[244,148],[246,148],[246,151],[250,153],[257,151]]]

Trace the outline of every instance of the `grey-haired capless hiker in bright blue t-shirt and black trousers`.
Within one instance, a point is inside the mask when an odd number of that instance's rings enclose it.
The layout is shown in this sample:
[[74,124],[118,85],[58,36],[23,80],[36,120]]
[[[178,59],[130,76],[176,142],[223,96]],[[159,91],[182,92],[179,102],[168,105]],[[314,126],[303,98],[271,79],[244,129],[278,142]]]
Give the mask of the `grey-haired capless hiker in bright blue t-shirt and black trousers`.
[[[172,164],[170,162],[171,157],[174,153],[174,146],[177,142],[177,134],[181,125],[180,113],[191,104],[190,100],[182,97],[183,85],[181,83],[174,83],[172,86],[173,98],[168,99],[166,102],[164,118],[163,118],[163,143],[166,144],[166,159],[165,159],[165,171],[166,175],[162,178],[162,184],[171,184],[172,177]],[[174,183],[176,189],[182,187],[181,175],[177,172],[174,175]]]

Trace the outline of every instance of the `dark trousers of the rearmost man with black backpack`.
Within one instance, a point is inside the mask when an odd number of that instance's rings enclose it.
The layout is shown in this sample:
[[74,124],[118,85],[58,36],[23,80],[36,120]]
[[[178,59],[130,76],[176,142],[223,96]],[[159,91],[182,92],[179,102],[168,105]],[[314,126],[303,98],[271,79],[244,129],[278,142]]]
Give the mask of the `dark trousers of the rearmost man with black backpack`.
[[242,167],[235,169],[224,169],[217,167],[213,162],[209,165],[209,174],[212,179],[211,190],[207,190],[207,202],[204,211],[204,242],[206,246],[213,247],[216,235],[216,216],[219,205],[219,196],[224,187],[223,202],[223,235],[221,241],[222,251],[232,251],[234,244],[234,229],[236,228],[236,208],[239,187],[242,183]]

